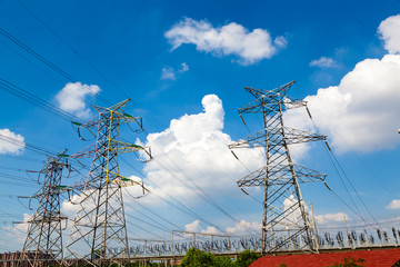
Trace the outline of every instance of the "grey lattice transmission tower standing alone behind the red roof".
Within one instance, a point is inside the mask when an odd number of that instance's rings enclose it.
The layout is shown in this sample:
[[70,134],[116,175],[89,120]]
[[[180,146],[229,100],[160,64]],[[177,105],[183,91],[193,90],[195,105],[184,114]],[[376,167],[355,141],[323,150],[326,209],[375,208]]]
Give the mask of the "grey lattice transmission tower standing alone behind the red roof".
[[264,148],[264,166],[238,180],[240,188],[263,187],[263,254],[273,253],[288,245],[301,250],[318,251],[317,234],[309,219],[299,184],[324,180],[326,175],[293,164],[289,146],[326,140],[326,137],[284,126],[286,110],[307,108],[306,101],[287,96],[293,83],[294,81],[291,81],[272,90],[246,87],[256,99],[239,109],[239,115],[242,118],[244,113],[261,113],[263,129],[229,145],[230,149]]

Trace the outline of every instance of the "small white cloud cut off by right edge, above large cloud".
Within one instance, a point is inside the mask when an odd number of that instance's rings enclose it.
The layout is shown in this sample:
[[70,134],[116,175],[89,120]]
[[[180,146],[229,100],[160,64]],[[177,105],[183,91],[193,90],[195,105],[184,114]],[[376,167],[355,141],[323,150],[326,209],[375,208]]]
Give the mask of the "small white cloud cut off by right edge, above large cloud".
[[383,20],[378,28],[378,32],[384,41],[384,48],[390,53],[400,52],[400,14]]

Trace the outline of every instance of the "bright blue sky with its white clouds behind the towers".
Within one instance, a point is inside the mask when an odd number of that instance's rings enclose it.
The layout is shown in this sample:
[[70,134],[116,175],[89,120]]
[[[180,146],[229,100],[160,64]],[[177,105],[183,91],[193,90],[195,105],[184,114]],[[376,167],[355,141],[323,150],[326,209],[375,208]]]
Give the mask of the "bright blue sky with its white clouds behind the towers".
[[[251,100],[244,86],[270,89],[297,80],[291,96],[309,101],[319,131],[329,136],[336,157],[371,214],[396,217],[400,209],[400,200],[396,201],[400,199],[400,18],[393,16],[399,13],[400,1],[396,0],[0,0],[0,28],[96,97],[80,86],[67,86],[71,80],[3,34],[0,78],[84,120],[90,118],[90,105],[108,106],[130,97],[127,111],[143,117],[146,131],[132,134],[128,129],[122,131],[123,138],[154,147],[158,156],[154,162],[134,164],[140,172],[121,162],[123,175],[156,182],[149,181],[154,194],[140,199],[143,206],[138,212],[148,208],[181,228],[190,225],[194,230],[209,225],[197,225],[197,218],[162,202],[157,194],[162,196],[168,190],[219,228],[234,228],[234,221],[181,182],[191,180],[190,187],[202,188],[239,221],[260,222],[261,206],[236,188],[234,180],[247,170],[231,155],[228,159],[226,146],[249,135],[237,113]],[[389,17],[392,19],[387,20]],[[381,24],[384,20],[389,22]],[[4,90],[0,90],[0,99],[2,135],[20,135],[24,142],[53,151],[78,151],[89,145],[79,140],[70,122]],[[313,130],[301,113],[287,116],[293,126]],[[259,130],[257,118],[249,121],[251,131]],[[328,174],[329,185],[352,205],[322,145],[297,150],[302,165]],[[259,168],[261,159],[256,154],[240,157],[249,169]],[[18,169],[38,170],[46,160],[43,155],[16,150],[8,144],[0,144],[0,156],[1,172],[26,179],[30,178]],[[134,159],[127,156],[127,160]],[[351,185],[347,187],[360,212],[371,220]],[[30,196],[39,186],[2,188],[2,228],[14,230],[11,222],[32,212],[16,196]],[[334,217],[339,212],[357,220],[322,184],[304,186],[303,195],[311,198],[321,221],[324,215]],[[134,216],[137,206],[129,201],[132,209],[128,212]],[[167,222],[164,226],[173,228]],[[149,235],[129,227],[132,235]],[[158,235],[169,237],[168,233]]]

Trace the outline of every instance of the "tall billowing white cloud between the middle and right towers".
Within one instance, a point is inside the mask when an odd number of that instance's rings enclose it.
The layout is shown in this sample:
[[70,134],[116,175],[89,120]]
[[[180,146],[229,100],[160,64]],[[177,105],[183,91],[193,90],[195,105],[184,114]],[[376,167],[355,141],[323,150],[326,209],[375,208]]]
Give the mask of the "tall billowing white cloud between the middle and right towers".
[[[208,95],[201,102],[202,112],[173,119],[166,130],[148,135],[144,145],[151,147],[153,160],[144,167],[144,184],[152,182],[153,188],[143,201],[167,191],[197,199],[197,187],[211,195],[230,195],[238,190],[236,180],[248,174],[228,149],[232,140],[222,131],[222,101]],[[236,154],[249,169],[257,169],[263,164],[261,151],[253,148]]]

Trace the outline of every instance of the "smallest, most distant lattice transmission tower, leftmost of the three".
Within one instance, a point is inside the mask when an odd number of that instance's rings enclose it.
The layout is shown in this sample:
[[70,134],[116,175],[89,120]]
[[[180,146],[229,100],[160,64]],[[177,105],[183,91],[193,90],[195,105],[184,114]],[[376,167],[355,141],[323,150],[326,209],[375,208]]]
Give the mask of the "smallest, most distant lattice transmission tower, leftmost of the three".
[[66,169],[69,174],[70,165],[62,152],[57,157],[48,157],[46,166],[39,171],[39,177],[43,176],[43,186],[31,197],[39,200],[39,206],[27,221],[28,236],[19,263],[21,266],[27,261],[34,267],[47,266],[42,261],[56,265],[62,260],[62,229],[67,217],[60,212],[60,195],[66,192],[66,187],[61,186]]

